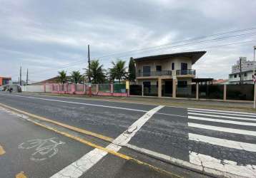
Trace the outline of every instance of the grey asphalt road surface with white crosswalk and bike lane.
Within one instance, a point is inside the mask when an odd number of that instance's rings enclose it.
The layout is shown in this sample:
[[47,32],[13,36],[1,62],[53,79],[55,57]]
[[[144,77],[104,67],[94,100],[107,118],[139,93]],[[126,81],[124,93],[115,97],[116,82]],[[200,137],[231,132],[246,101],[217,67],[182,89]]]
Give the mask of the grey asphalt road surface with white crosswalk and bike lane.
[[[97,142],[102,147],[109,147],[110,150],[136,157],[142,162],[147,162],[154,167],[179,174],[182,177],[206,176],[175,167],[169,162],[219,177],[223,175],[256,177],[255,114],[31,94],[0,93],[0,98],[0,103],[11,108],[110,137],[114,140],[114,145],[118,141],[117,145],[120,143],[122,147],[116,148],[112,144],[109,146],[107,142],[92,141]],[[2,115],[3,113],[0,112],[0,116]],[[19,145],[20,142],[26,142],[26,140],[51,137],[57,137],[65,143],[75,142],[63,135],[56,135],[45,128],[39,129],[39,126],[35,126],[33,123],[24,123],[24,121],[16,121],[16,119],[9,119],[7,122],[3,117],[0,118],[1,122],[5,123],[5,125],[0,125],[0,145],[2,146],[9,144],[9,147],[14,148],[14,145]],[[16,125],[15,129],[7,129],[12,128],[12,125]],[[22,134],[14,138],[14,142],[8,141],[12,140],[12,137],[19,132],[16,130],[20,130],[20,128],[27,130],[27,132],[20,131]],[[128,134],[129,140],[122,137],[125,133]],[[47,163],[45,160],[41,161],[43,165],[53,164],[55,167],[53,166],[51,171],[46,171],[42,165],[39,166],[41,170],[33,167],[31,170],[36,170],[35,174],[40,174],[41,177],[50,177],[64,167],[68,167],[75,160],[81,161],[80,157],[83,155],[89,154],[92,155],[93,163],[89,163],[92,164],[91,167],[84,168],[82,177],[169,176],[163,172],[157,172],[147,165],[142,166],[112,154],[104,155],[104,152],[99,152],[95,157],[94,153],[98,150],[94,150],[81,142],[59,146],[59,152],[56,154],[57,156],[54,156],[56,157],[55,162],[51,163],[51,159],[47,159]],[[27,151],[17,147],[14,148],[14,153],[11,155],[21,154],[19,152],[24,152],[24,150]],[[75,154],[65,152],[65,150],[74,151]],[[5,155],[7,155],[7,151]],[[31,159],[29,160],[31,161]],[[4,162],[13,161],[14,158],[12,157],[5,160],[0,156],[1,165]],[[19,165],[22,166],[22,164]],[[6,165],[4,172],[12,172],[12,168],[8,164]],[[21,167],[20,171],[15,169],[14,172],[24,171],[25,165]],[[36,165],[33,166],[36,167]],[[45,174],[41,173],[45,171]],[[34,175],[33,171],[27,170],[27,172],[29,175]],[[10,174],[6,173],[6,175]]]

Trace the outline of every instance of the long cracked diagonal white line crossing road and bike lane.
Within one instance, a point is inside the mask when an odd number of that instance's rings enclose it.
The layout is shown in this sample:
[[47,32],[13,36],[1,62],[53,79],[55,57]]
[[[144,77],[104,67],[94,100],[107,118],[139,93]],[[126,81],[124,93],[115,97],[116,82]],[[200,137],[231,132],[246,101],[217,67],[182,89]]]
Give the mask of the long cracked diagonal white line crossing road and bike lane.
[[[126,131],[124,131],[119,137],[117,137],[111,144],[109,144],[106,148],[108,150],[113,150],[114,152],[118,152],[122,146],[127,145],[129,140],[140,130],[140,128],[149,120],[155,112],[162,109],[164,106],[159,105],[157,108],[149,110],[146,114],[140,117],[137,121],[135,121]],[[107,152],[103,150],[94,149],[91,152],[87,153],[76,162],[73,162],[69,166],[65,167],[61,171],[57,172],[52,176],[52,178],[60,178],[60,177],[80,177],[84,172],[87,172],[94,164],[97,164],[100,159],[107,155]]]

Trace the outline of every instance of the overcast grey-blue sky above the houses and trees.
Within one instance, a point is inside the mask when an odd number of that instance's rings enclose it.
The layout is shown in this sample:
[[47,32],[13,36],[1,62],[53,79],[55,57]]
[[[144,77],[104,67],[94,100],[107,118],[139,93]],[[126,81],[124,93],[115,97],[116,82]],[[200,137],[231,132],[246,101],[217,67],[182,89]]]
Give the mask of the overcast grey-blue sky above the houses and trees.
[[252,60],[256,28],[211,43],[179,46],[188,42],[177,41],[254,28],[255,9],[255,0],[0,0],[0,75],[17,80],[19,66],[23,78],[29,68],[31,81],[54,77],[61,68],[83,71],[90,44],[92,59],[99,58],[104,68],[116,58],[128,65],[131,56],[207,51],[192,67],[197,77],[227,78],[240,56]]

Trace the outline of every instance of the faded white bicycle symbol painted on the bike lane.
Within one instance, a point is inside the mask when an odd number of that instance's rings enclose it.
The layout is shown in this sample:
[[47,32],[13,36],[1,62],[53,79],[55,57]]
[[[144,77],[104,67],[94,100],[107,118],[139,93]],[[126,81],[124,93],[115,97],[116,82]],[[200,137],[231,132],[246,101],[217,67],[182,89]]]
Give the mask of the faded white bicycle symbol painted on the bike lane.
[[23,142],[19,145],[19,149],[30,150],[35,148],[30,159],[35,162],[43,161],[50,157],[53,157],[58,153],[58,146],[64,145],[65,142],[57,141],[58,138],[52,137],[49,139],[34,139]]

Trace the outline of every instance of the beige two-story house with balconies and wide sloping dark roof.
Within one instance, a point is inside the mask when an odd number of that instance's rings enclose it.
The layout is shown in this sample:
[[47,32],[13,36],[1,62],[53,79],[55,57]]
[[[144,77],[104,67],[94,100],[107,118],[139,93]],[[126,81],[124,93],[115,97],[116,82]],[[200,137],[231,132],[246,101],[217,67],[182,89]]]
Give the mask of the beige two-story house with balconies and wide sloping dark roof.
[[149,92],[157,90],[158,96],[174,96],[176,85],[186,88],[192,83],[192,78],[195,78],[192,65],[205,53],[194,51],[134,58],[137,84]]

